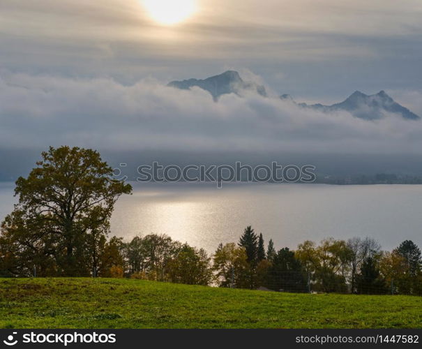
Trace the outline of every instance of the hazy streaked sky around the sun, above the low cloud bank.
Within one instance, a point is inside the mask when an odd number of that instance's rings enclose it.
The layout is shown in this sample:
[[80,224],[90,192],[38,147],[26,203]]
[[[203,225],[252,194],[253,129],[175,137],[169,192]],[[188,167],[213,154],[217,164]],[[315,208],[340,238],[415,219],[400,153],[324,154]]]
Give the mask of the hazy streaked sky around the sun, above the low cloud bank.
[[303,101],[420,90],[420,0],[197,0],[171,27],[141,0],[1,0],[3,70],[168,82],[247,68]]

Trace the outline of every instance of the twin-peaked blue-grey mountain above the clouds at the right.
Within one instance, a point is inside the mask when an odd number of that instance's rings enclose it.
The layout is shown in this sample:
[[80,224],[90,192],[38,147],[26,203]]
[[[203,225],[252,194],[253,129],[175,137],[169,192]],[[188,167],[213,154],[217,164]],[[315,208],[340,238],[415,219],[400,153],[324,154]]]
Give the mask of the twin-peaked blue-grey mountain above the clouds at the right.
[[[280,96],[282,99],[291,98],[289,95]],[[399,114],[403,119],[419,120],[421,117],[411,112],[407,107],[396,103],[385,91],[378,94],[366,95],[360,91],[355,91],[349,98],[341,103],[333,105],[299,103],[301,107],[308,107],[322,112],[336,112],[345,110],[355,117],[366,120],[381,119],[386,114]]]

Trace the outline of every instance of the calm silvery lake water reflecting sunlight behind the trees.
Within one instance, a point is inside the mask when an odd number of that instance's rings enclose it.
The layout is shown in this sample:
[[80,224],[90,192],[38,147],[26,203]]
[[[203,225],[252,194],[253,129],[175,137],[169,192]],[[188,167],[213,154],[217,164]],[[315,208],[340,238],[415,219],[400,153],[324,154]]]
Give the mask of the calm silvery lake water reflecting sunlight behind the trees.
[[[214,251],[237,242],[246,225],[276,248],[306,239],[373,237],[391,249],[422,246],[422,186],[324,184],[133,184],[112,218],[112,234],[150,232]],[[0,217],[13,208],[13,184],[0,184]]]

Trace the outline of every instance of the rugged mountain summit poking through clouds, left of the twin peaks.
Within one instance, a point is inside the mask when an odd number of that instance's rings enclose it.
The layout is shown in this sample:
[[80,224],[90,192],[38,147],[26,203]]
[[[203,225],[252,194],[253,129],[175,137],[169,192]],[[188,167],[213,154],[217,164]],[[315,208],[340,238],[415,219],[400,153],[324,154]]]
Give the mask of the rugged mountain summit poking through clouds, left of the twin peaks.
[[223,94],[241,95],[242,91],[256,91],[261,96],[266,96],[265,87],[255,84],[255,82],[243,81],[239,73],[234,70],[227,70],[225,73],[208,77],[204,80],[189,79],[183,81],[173,81],[167,86],[177,89],[190,89],[191,87],[200,87],[209,91],[214,101],[218,101]]

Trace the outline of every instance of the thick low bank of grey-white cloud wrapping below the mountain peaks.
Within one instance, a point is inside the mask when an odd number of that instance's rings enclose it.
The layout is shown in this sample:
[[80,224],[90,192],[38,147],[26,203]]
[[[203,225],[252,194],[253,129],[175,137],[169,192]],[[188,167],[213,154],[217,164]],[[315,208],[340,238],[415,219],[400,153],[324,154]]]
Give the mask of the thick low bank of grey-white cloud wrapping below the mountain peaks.
[[215,103],[202,89],[182,91],[151,78],[123,85],[3,72],[0,120],[1,149],[70,144],[117,151],[422,154],[420,121],[395,115],[365,121],[255,94],[225,95]]

